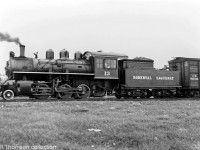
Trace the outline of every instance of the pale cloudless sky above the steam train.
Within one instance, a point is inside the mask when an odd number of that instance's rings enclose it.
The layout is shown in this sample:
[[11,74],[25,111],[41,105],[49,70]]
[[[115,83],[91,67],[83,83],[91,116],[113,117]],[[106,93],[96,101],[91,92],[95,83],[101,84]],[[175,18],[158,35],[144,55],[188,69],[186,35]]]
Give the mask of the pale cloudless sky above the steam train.
[[[200,58],[199,0],[0,0],[0,32],[18,37],[25,55],[48,49],[123,53],[163,68],[174,57]],[[15,43],[0,42],[0,74]]]

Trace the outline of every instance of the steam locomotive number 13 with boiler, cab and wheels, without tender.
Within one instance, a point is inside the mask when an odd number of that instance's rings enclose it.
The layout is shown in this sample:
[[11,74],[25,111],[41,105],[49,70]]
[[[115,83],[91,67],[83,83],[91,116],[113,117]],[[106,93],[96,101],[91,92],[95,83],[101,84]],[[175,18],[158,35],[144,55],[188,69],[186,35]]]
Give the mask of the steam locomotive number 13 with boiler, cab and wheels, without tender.
[[20,56],[10,52],[5,67],[7,82],[1,86],[2,97],[10,100],[17,95],[37,99],[48,97],[86,98],[112,92],[118,80],[119,59],[123,54],[76,52],[69,59],[67,50],[54,59],[53,50],[46,51],[46,59],[25,57],[25,46],[20,45]]

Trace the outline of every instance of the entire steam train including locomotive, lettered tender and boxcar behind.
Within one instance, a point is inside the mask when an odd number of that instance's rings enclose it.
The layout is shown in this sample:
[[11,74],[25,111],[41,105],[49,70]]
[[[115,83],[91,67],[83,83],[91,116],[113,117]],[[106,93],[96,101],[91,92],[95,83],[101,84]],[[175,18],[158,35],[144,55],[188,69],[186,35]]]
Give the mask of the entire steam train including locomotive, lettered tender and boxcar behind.
[[116,53],[76,52],[69,59],[67,50],[54,59],[52,50],[46,59],[25,57],[10,52],[6,65],[8,80],[1,85],[2,97],[29,96],[36,99],[102,97],[106,93],[117,98],[149,98],[199,96],[200,59],[176,58],[168,70],[154,69],[154,61],[146,58],[128,59]]

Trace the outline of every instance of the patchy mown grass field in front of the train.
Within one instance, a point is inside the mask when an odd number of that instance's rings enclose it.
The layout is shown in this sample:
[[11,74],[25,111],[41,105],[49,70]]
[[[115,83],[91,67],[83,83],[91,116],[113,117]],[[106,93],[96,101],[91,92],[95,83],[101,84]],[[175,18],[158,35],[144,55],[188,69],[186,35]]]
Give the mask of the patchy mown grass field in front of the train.
[[199,100],[17,100],[0,106],[0,149],[200,150]]

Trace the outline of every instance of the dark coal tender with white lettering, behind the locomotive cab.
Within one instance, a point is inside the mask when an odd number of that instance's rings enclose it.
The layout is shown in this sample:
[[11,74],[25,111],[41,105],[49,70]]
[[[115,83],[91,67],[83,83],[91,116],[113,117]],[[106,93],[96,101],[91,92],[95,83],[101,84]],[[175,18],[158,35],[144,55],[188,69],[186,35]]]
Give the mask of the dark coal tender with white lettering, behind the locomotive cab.
[[179,71],[156,70],[151,59],[119,60],[117,98],[175,96],[180,88]]

